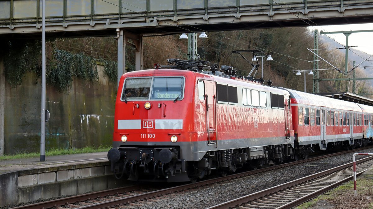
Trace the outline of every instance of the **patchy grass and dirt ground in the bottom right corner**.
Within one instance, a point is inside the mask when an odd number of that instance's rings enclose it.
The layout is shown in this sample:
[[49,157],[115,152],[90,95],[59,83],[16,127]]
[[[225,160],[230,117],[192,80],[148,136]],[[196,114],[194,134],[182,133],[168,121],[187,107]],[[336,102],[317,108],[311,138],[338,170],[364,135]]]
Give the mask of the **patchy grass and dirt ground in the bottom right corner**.
[[349,181],[295,208],[373,209],[372,176],[357,179],[357,197],[354,196],[354,181]]

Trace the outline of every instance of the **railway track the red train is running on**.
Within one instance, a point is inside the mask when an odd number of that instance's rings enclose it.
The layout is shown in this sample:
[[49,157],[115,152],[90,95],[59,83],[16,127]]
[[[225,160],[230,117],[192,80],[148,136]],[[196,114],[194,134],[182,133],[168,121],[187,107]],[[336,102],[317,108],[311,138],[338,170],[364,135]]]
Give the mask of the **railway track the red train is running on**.
[[[367,148],[360,148],[367,149]],[[149,189],[148,185],[138,184],[129,187],[122,187],[118,189],[111,189],[105,191],[99,191],[94,193],[82,194],[78,196],[65,197],[62,199],[50,200],[47,202],[35,203],[31,205],[19,206],[12,209],[104,209],[104,208],[117,208],[121,205],[128,203],[134,203],[141,200],[149,200],[154,197],[164,196],[172,193],[177,193],[185,190],[191,190],[203,186],[209,186],[210,184],[219,183],[222,181],[241,178],[248,175],[256,175],[267,171],[280,170],[281,168],[302,164],[305,162],[316,161],[323,158],[328,158],[336,155],[342,155],[345,153],[356,152],[360,149],[354,149],[353,151],[344,151],[333,153],[329,155],[318,156],[314,158],[304,159],[296,162],[289,162],[286,164],[280,164],[273,167],[261,168],[254,171],[241,172],[237,174],[228,175],[225,177],[213,178],[210,180],[199,181],[196,183],[189,183],[180,186],[170,187],[166,189],[153,188]],[[236,204],[237,205],[237,204]],[[121,206],[122,207],[122,206]]]

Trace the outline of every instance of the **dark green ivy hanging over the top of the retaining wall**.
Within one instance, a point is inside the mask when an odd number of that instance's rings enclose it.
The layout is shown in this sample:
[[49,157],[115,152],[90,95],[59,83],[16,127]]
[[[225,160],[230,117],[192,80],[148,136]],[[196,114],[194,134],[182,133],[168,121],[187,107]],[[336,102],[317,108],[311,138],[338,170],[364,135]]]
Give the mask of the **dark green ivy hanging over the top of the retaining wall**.
[[[5,41],[0,43],[0,56],[4,59],[5,79],[10,86],[16,87],[22,83],[26,72],[41,75],[41,42],[36,41]],[[71,88],[73,77],[81,80],[98,80],[96,61],[104,65],[105,75],[112,82],[117,82],[117,62],[95,59],[83,53],[73,54],[65,50],[47,50],[46,82],[67,92]]]

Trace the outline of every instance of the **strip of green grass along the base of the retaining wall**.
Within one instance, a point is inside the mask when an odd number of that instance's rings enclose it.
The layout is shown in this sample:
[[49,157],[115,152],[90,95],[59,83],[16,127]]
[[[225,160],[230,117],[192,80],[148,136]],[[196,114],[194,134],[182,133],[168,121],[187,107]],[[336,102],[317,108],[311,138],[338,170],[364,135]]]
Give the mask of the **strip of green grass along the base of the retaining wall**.
[[[85,148],[79,148],[79,149],[51,149],[51,150],[46,151],[46,156],[70,155],[70,154],[81,154],[81,153],[92,153],[92,152],[107,152],[111,148],[112,148],[111,146],[100,146],[98,148],[85,147]],[[19,153],[17,155],[4,155],[4,156],[0,156],[0,160],[37,158],[37,157],[40,157],[40,152]]]

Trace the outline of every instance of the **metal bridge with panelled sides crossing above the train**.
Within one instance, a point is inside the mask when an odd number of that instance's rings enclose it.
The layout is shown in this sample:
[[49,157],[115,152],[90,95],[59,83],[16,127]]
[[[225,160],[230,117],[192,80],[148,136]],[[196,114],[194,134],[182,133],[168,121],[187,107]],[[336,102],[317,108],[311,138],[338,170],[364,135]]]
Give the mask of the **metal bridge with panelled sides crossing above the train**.
[[[40,37],[42,0],[0,0],[0,38]],[[367,23],[372,0],[46,0],[47,37]]]

